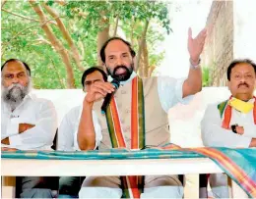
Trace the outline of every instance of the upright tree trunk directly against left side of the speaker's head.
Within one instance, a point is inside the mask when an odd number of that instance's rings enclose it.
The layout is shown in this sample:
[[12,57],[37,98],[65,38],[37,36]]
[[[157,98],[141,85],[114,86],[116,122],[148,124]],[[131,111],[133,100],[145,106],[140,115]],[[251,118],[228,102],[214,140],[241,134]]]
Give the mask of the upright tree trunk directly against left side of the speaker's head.
[[104,28],[101,31],[97,32],[97,43],[96,43],[96,52],[97,52],[97,65],[103,66],[103,63],[101,61],[99,52],[104,44],[104,42],[109,38],[109,21],[108,19],[101,19],[100,26],[104,26]]

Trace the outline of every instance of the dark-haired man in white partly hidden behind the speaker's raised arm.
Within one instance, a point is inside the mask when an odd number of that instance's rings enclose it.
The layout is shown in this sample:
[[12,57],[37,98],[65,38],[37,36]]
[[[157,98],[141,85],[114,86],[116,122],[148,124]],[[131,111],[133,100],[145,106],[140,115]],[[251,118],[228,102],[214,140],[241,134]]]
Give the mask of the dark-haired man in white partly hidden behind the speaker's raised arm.
[[[97,67],[92,67],[84,72],[82,75],[82,85],[85,92],[89,92],[92,85],[97,81],[106,81],[106,74]],[[78,145],[78,127],[79,123],[87,120],[84,115],[81,115],[82,110],[85,107],[77,106],[69,111],[69,113],[63,118],[57,136],[57,150],[60,151],[76,151],[81,150]],[[93,111],[93,118],[96,113]],[[96,149],[100,140],[102,139],[101,129],[98,124],[96,127],[96,144],[91,149]],[[81,187],[81,180],[85,177],[79,176],[61,176],[59,178],[59,198],[60,197],[78,197],[78,192]]]

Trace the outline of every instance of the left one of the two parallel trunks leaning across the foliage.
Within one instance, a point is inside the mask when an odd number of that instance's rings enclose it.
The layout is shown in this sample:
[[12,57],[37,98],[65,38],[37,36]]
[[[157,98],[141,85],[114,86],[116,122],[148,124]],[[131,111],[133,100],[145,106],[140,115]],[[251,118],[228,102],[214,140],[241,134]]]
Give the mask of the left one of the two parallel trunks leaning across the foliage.
[[30,0],[30,3],[32,5],[32,9],[34,12],[38,15],[40,22],[41,22],[41,28],[45,32],[47,38],[51,42],[51,45],[53,48],[60,54],[62,61],[66,67],[67,72],[67,87],[68,88],[75,88],[75,78],[73,74],[72,65],[68,56],[68,53],[64,46],[60,43],[60,41],[56,38],[56,36],[53,34],[52,29],[49,25],[44,24],[46,22],[46,17],[41,10],[41,7],[35,0]]

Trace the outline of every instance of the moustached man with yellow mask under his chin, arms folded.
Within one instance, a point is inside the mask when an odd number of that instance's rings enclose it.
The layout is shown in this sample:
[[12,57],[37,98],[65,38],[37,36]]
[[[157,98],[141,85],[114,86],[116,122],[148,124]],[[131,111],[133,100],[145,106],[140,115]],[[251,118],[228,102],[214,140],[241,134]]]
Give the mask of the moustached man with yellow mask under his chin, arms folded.
[[[201,123],[205,146],[246,148],[256,146],[256,65],[250,60],[234,60],[227,68],[231,92],[223,103],[210,105]],[[227,176],[211,174],[215,197],[227,198]]]

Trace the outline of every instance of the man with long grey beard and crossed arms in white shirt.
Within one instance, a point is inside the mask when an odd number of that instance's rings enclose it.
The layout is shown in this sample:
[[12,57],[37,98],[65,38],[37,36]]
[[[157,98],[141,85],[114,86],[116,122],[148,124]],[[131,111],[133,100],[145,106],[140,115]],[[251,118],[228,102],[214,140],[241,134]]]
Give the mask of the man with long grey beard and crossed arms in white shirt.
[[[2,68],[1,148],[2,150],[50,150],[57,128],[52,102],[32,95],[31,70],[17,59]],[[51,198],[45,177],[24,176],[22,198]]]

